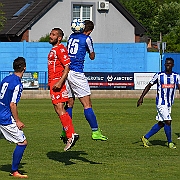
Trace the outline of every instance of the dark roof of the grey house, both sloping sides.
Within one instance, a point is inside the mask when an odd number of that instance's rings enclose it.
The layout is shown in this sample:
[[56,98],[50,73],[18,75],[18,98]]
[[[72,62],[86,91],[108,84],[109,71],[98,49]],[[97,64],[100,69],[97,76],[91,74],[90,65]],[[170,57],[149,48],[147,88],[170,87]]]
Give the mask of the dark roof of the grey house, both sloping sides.
[[[58,0],[1,0],[2,11],[7,21],[0,36],[20,36],[38,21]],[[118,0],[109,0],[117,10],[135,27],[135,34],[141,35],[146,29],[127,11]],[[21,9],[22,8],[22,9]],[[22,13],[21,13],[22,12]]]

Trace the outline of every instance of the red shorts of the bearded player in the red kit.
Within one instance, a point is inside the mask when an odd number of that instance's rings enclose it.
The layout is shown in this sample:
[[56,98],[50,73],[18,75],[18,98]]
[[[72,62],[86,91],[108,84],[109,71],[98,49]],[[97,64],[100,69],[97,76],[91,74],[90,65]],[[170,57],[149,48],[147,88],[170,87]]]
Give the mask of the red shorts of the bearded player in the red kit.
[[61,89],[58,90],[52,90],[53,85],[57,82],[51,81],[50,83],[50,96],[53,104],[58,104],[62,102],[67,102],[68,101],[68,91],[66,89],[66,85],[64,84]]

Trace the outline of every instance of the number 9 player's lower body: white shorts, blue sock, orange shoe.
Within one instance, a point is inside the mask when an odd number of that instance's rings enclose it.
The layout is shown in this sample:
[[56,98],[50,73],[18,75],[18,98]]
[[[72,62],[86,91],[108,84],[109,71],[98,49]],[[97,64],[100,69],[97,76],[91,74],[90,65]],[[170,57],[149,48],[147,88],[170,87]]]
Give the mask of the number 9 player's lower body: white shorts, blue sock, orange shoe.
[[23,131],[18,129],[15,121],[13,121],[13,124],[10,125],[6,125],[6,126],[1,125],[0,129],[5,139],[17,144],[12,156],[12,168],[10,175],[19,178],[27,178],[28,176],[20,174],[18,169],[24,151],[27,146],[27,140]]

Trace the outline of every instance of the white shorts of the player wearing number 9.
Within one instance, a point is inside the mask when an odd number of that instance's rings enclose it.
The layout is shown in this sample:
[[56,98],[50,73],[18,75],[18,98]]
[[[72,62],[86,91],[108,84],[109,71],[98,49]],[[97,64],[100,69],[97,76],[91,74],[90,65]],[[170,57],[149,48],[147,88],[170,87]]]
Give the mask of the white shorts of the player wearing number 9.
[[[12,118],[12,117],[11,117]],[[0,125],[0,134],[2,133],[4,138],[13,143],[22,143],[26,140],[26,137],[22,130],[18,129],[15,120],[12,118],[13,123],[9,125]]]

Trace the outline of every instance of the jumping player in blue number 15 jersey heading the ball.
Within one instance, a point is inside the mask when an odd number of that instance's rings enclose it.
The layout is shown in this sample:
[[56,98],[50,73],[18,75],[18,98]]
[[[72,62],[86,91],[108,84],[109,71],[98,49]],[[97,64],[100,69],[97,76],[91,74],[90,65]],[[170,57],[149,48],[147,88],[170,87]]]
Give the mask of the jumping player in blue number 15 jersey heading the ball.
[[85,20],[84,24],[85,28],[83,33],[71,34],[67,44],[68,54],[71,61],[70,71],[68,73],[70,90],[68,91],[69,101],[67,111],[70,116],[72,116],[72,108],[74,104],[73,98],[76,96],[83,105],[84,116],[92,130],[92,139],[106,141],[108,138],[102,135],[97,123],[96,115],[92,109],[90,98],[91,91],[87,77],[83,72],[86,52],[89,54],[91,60],[95,59],[93,42],[90,37],[90,34],[94,29],[94,23],[90,20]]

